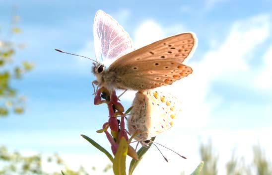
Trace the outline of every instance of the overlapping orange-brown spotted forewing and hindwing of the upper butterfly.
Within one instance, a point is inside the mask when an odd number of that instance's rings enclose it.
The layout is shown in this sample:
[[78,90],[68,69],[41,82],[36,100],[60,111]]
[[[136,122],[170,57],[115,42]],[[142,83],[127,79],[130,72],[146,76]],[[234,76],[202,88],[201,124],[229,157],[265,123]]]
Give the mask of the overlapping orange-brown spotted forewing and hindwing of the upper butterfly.
[[194,33],[182,33],[137,49],[117,59],[109,72],[117,74],[119,87],[136,90],[171,85],[193,71],[183,65],[197,46]]

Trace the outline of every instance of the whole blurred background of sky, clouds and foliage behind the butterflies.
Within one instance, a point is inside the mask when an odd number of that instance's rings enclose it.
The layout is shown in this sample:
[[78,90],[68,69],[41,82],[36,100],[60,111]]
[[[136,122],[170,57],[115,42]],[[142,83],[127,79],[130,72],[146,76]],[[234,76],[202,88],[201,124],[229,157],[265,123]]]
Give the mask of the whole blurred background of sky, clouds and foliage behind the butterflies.
[[[173,86],[183,103],[174,127],[156,141],[139,174],[272,175],[272,1],[0,0],[0,175],[112,174],[85,134],[110,150],[101,129],[105,104],[93,104],[93,19],[109,13],[135,48],[193,31],[199,39],[186,64],[193,74]],[[130,107],[135,92],[121,99]],[[159,166],[158,165],[162,165]],[[73,173],[73,174],[72,174]]]

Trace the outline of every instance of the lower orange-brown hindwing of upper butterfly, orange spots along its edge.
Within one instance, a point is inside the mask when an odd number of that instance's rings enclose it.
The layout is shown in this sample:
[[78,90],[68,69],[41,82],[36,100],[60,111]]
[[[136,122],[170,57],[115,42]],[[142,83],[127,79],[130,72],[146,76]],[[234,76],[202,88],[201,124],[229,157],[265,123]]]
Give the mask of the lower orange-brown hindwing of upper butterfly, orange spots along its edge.
[[189,66],[167,60],[140,62],[136,66],[120,66],[116,69],[120,86],[136,90],[171,85],[193,72]]

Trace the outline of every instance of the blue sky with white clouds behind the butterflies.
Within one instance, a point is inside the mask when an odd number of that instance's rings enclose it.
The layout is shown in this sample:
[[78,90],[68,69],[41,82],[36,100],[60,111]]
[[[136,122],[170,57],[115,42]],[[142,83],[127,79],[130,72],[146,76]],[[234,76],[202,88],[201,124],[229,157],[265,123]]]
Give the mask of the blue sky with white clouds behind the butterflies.
[[[271,0],[0,0],[0,4],[0,40],[7,39],[11,9],[17,5],[22,33],[13,40],[27,47],[17,51],[15,58],[36,65],[22,81],[12,82],[28,97],[27,108],[23,115],[0,119],[0,145],[21,151],[96,155],[80,138],[83,133],[107,146],[104,136],[95,133],[107,113],[105,105],[92,102],[92,63],[54,51],[60,48],[94,58],[92,23],[95,12],[102,9],[125,28],[136,48],[185,31],[197,34],[198,48],[187,62],[194,73],[161,89],[171,90],[184,105],[177,126],[157,138],[190,155],[191,161],[181,161],[181,168],[194,169],[200,161],[199,143],[208,138],[222,162],[233,149],[251,157],[251,146],[257,143],[272,155],[272,142],[265,137],[272,125]],[[124,99],[126,107],[131,101]],[[177,144],[173,138],[181,141]],[[144,161],[158,163],[159,156],[153,150]],[[168,163],[167,168],[176,170],[176,164]]]

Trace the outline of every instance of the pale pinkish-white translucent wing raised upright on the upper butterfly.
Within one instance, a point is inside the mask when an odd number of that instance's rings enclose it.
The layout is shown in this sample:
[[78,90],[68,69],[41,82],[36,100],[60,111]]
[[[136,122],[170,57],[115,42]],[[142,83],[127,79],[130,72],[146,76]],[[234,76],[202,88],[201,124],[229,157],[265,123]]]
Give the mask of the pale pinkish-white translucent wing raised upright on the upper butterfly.
[[129,34],[109,14],[98,10],[93,23],[95,56],[98,62],[114,61],[132,51]]

